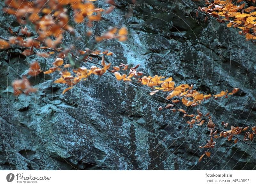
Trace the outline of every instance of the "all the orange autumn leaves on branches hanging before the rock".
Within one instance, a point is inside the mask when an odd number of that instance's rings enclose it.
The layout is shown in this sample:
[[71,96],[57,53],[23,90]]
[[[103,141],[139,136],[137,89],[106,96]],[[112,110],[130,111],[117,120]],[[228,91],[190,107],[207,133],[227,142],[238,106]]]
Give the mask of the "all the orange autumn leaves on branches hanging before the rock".
[[[121,63],[119,66],[111,66],[111,63],[105,61],[104,56],[113,55],[111,51],[105,50],[90,50],[85,51],[75,49],[74,46],[62,46],[63,33],[75,33],[73,27],[69,25],[68,10],[72,10],[74,15],[74,21],[76,23],[86,22],[90,27],[93,21],[100,21],[102,13],[109,13],[114,9],[115,3],[113,0],[107,0],[109,8],[103,10],[102,8],[96,8],[93,4],[94,0],[49,0],[49,1],[23,1],[23,0],[6,0],[5,4],[8,6],[4,8],[4,11],[12,14],[16,17],[17,21],[21,25],[31,23],[34,27],[37,35],[32,35],[28,28],[21,27],[19,33],[14,33],[12,28],[9,28],[9,38],[0,39],[2,48],[9,49],[12,45],[18,45],[26,47],[27,49],[22,52],[23,55],[29,56],[35,53],[39,57],[48,58],[55,52],[58,53],[55,61],[52,63],[52,67],[47,71],[42,71],[39,63],[33,61],[28,69],[29,76],[37,76],[40,73],[52,74],[58,71],[60,77],[54,81],[54,83],[66,84],[68,87],[63,90],[63,94],[72,89],[80,81],[86,81],[89,76],[97,75],[102,76],[106,72],[110,73],[117,81],[124,81],[134,86],[144,86],[151,88],[149,95],[157,95],[158,92],[167,92],[165,100],[169,102],[168,105],[159,106],[158,111],[164,109],[171,109],[172,112],[183,113],[183,118],[188,118],[187,125],[189,128],[195,126],[204,126],[208,128],[210,132],[210,140],[206,141],[206,144],[200,146],[200,148],[207,148],[208,150],[200,157],[199,161],[206,155],[210,157],[210,148],[213,148],[216,144],[215,140],[220,137],[227,137],[228,141],[233,138],[234,143],[237,141],[244,142],[247,140],[253,140],[256,134],[256,127],[252,127],[251,132],[246,132],[249,127],[239,128],[233,127],[229,130],[219,129],[212,121],[210,113],[203,114],[197,109],[197,115],[189,114],[184,109],[181,109],[177,104],[185,105],[187,107],[195,107],[203,103],[207,99],[228,98],[239,91],[238,88],[234,88],[228,93],[228,90],[223,90],[219,94],[203,94],[193,89],[193,85],[180,84],[175,85],[172,77],[163,76],[143,76],[143,72],[137,71],[140,65],[130,67],[128,64]],[[228,27],[238,27],[241,29],[240,34],[246,35],[247,39],[255,39],[256,30],[254,27],[254,12],[255,7],[248,7],[244,9],[243,4],[236,6],[231,1],[208,1],[205,0],[205,4],[208,7],[199,7],[199,10],[209,14],[210,16],[218,18],[217,20],[228,21]],[[251,34],[249,32],[252,32]],[[18,36],[17,36],[18,35]],[[92,30],[87,31],[87,35],[92,35]],[[128,39],[128,30],[126,27],[109,28],[106,33],[100,36],[96,36],[95,40],[100,42],[104,39],[117,39],[120,42],[124,42]],[[61,45],[61,46],[60,46]],[[48,52],[39,52],[38,50],[45,50]],[[93,61],[92,57],[101,56],[101,63]],[[67,58],[69,64],[64,64],[64,59]],[[77,64],[78,62],[78,64]],[[90,68],[81,67],[82,63],[92,63]],[[12,83],[14,89],[14,95],[18,97],[21,93],[29,94],[35,92],[36,88],[30,86],[30,83],[26,76],[23,76],[21,80],[16,80]],[[148,89],[147,89],[148,90]],[[228,123],[222,122],[225,127]],[[237,136],[244,133],[244,139],[240,140]],[[250,144],[249,144],[250,145]]]

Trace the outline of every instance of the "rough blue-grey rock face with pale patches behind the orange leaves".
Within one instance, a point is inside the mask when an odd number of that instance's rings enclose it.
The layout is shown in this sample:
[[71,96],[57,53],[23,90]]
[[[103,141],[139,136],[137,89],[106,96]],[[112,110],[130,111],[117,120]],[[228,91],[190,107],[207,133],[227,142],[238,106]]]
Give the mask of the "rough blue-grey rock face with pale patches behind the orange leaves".
[[[204,23],[202,15],[196,18],[190,8],[193,4],[165,0],[137,3],[141,5],[118,1],[121,6],[93,26],[94,35],[99,35],[110,26],[126,25],[126,42],[95,43],[85,37],[86,25],[78,24],[73,25],[75,35],[65,35],[65,45],[74,44],[81,50],[108,49],[115,54],[106,58],[113,66],[141,64],[139,71],[145,75],[173,77],[177,84],[194,84],[208,94],[240,88],[229,99],[207,100],[199,109],[211,112],[219,126],[221,121],[230,126],[254,126],[255,44],[214,19]],[[3,5],[1,2],[1,8]],[[104,1],[98,6],[106,8]],[[132,16],[124,16],[131,10]],[[8,37],[8,27],[17,30],[19,23],[2,13],[2,36]],[[189,129],[181,113],[157,111],[166,105],[161,97],[127,86],[110,74],[92,76],[62,95],[65,85],[52,83],[59,74],[41,73],[29,78],[37,93],[15,99],[11,83],[27,73],[28,64],[37,60],[45,70],[55,58],[25,57],[20,55],[23,50],[1,50],[0,170],[256,169],[252,147],[224,138],[216,140],[210,158],[198,163],[204,153],[198,147],[209,139],[209,131]]]

